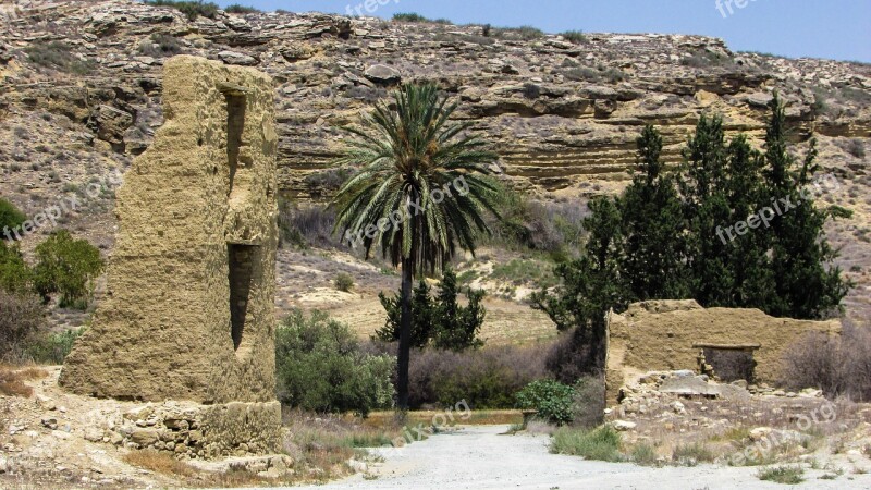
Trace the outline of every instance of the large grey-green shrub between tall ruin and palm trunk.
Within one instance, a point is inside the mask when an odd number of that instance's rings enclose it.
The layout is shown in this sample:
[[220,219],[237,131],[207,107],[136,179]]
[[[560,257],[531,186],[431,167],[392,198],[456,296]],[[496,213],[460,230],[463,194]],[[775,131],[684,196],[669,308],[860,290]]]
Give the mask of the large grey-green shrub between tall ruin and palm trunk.
[[275,373],[282,403],[312,412],[388,408],[395,359],[360,350],[344,323],[321,311],[293,311],[275,330]]

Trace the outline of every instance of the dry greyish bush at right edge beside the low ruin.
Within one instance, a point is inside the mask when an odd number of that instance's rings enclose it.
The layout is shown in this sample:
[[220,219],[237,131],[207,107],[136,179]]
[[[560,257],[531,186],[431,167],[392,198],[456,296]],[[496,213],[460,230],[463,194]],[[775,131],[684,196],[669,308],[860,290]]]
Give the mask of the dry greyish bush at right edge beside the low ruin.
[[871,329],[844,321],[841,336],[810,333],[785,355],[782,383],[790,390],[817,388],[830,399],[871,401]]

